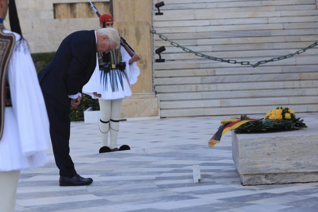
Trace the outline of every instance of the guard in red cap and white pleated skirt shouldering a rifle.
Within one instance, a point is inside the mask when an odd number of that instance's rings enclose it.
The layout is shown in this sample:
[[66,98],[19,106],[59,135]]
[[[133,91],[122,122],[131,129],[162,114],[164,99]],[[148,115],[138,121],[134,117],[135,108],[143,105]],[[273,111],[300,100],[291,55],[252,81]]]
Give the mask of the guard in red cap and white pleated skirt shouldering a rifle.
[[[113,28],[114,21],[111,15],[103,14],[99,19],[100,28]],[[83,87],[83,93],[99,101],[99,130],[102,143],[100,153],[130,150],[128,145],[121,145],[118,148],[117,138],[122,100],[124,97],[132,95],[130,86],[137,82],[140,74],[136,65],[139,59],[139,56],[121,38],[120,48],[109,53],[98,54],[96,69],[91,79]],[[108,132],[110,134],[109,144]]]

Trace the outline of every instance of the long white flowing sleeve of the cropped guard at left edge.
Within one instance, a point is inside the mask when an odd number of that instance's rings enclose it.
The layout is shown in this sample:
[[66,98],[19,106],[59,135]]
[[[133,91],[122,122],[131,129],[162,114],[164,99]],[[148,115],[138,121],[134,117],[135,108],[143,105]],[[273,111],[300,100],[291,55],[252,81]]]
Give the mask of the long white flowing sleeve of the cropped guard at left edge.
[[[14,34],[19,40],[20,35]],[[29,157],[48,149],[49,119],[31,55],[22,46],[13,50],[8,81],[22,155]]]

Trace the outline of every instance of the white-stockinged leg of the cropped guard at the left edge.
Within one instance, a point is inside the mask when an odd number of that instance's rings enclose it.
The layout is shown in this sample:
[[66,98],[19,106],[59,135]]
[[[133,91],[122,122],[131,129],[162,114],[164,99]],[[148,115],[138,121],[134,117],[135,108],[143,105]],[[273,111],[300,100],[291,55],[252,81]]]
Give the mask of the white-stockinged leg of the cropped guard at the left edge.
[[20,170],[0,172],[0,211],[13,212]]

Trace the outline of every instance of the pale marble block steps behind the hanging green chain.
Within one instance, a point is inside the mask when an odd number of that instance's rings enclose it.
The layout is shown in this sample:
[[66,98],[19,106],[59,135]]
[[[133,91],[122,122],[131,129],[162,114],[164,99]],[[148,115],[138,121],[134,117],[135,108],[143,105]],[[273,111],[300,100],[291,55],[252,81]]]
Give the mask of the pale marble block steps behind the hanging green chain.
[[[154,0],[156,4],[157,0]],[[193,51],[237,61],[294,53],[318,40],[316,0],[169,0],[154,29]],[[318,47],[258,67],[165,46],[155,63],[161,117],[264,114],[278,105],[318,111]],[[159,58],[156,55],[156,58]]]

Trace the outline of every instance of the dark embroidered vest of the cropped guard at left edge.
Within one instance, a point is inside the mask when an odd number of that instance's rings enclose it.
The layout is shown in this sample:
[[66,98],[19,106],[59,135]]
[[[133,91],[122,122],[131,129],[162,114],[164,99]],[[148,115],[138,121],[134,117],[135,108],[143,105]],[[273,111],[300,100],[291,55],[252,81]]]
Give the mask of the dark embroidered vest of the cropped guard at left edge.
[[0,24],[0,139],[3,134],[4,108],[11,105],[7,70],[16,39],[14,34],[3,33],[3,29],[3,24]]

